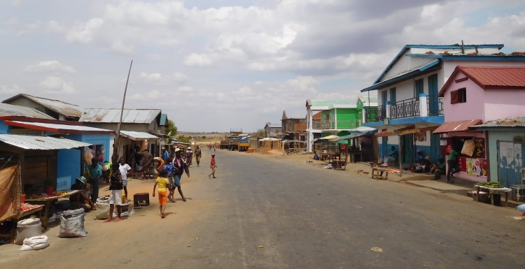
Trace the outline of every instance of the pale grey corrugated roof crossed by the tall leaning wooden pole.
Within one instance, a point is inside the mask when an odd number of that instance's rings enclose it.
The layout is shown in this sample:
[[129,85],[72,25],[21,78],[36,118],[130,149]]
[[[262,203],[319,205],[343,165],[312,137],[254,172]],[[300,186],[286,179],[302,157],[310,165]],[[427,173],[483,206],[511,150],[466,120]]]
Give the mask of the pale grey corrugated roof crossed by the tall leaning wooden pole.
[[[150,124],[160,114],[160,109],[125,109],[123,123]],[[79,122],[120,122],[119,108],[86,108]]]

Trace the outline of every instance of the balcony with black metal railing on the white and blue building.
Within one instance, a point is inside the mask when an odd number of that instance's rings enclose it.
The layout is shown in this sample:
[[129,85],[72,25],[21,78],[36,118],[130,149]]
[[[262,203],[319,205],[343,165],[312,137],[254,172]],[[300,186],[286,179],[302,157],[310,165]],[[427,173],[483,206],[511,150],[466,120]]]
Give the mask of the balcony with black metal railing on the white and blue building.
[[426,94],[421,94],[419,100],[411,98],[386,105],[386,108],[378,106],[377,108],[367,108],[365,110],[366,122],[383,122],[386,117],[390,119],[404,119],[442,115],[443,99],[437,96],[426,96]]

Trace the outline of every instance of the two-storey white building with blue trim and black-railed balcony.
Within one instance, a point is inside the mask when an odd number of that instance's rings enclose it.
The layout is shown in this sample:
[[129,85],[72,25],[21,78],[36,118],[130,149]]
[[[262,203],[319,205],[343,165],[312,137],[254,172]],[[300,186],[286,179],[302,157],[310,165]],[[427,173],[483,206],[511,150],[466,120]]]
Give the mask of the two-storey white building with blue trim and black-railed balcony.
[[525,56],[500,52],[503,45],[405,45],[374,84],[377,108],[366,109],[365,123],[379,129],[379,156],[399,150],[401,163],[413,163],[416,150],[435,163],[442,156],[443,98],[438,96],[458,65],[523,66]]

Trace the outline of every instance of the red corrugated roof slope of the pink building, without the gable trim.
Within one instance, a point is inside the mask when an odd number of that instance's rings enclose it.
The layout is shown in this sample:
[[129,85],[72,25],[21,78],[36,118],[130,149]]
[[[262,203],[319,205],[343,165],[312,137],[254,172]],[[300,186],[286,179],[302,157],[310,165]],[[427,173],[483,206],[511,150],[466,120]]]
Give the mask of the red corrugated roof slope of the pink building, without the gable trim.
[[525,88],[525,66],[458,66],[457,68],[484,89],[487,86]]

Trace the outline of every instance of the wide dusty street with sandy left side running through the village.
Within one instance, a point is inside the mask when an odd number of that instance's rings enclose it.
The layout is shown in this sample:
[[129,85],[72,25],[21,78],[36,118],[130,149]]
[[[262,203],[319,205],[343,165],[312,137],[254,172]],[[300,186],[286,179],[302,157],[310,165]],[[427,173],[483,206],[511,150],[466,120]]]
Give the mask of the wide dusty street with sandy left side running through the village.
[[[118,223],[86,215],[85,238],[0,246],[0,268],[523,268],[518,211],[456,194],[323,170],[275,154],[217,150],[190,168],[188,197]],[[194,161],[195,164],[195,161]],[[130,182],[149,192],[153,180]],[[101,194],[109,194],[102,191]],[[263,246],[263,247],[262,247]],[[374,252],[372,247],[382,249]],[[376,249],[377,250],[377,249]],[[379,251],[379,250],[377,250]]]

